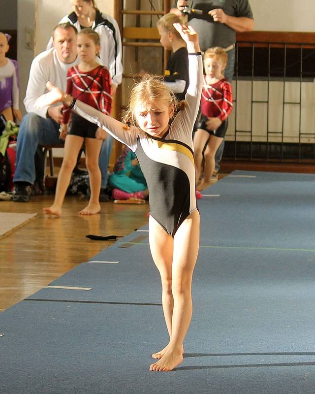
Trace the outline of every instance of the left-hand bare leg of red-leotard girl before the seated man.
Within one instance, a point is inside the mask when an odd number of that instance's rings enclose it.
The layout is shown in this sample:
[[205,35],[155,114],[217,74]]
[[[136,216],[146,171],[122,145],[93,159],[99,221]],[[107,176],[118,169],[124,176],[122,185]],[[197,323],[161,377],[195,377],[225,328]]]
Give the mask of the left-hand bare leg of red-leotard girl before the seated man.
[[62,214],[63,199],[69,186],[71,174],[77,162],[83,141],[84,138],[78,135],[70,134],[65,138],[63,164],[58,174],[55,200],[53,205],[44,208],[44,211],[50,215],[60,216]]

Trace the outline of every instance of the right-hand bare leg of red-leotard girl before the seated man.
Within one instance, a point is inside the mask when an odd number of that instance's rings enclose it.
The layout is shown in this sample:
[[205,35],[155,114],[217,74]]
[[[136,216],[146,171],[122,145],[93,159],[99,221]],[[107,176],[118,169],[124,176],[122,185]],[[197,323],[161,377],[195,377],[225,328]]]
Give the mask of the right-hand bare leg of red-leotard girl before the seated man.
[[79,212],[80,215],[94,215],[100,211],[99,192],[101,172],[98,166],[99,152],[102,141],[96,138],[85,138],[85,163],[89,171],[91,196],[89,204]]

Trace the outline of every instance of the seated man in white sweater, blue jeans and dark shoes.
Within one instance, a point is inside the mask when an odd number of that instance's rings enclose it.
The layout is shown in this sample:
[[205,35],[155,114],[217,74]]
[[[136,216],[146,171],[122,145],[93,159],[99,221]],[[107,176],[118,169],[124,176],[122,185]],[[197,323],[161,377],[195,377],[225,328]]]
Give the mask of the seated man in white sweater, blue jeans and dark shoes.
[[[76,28],[70,23],[58,25],[52,34],[54,48],[40,53],[32,61],[24,99],[28,113],[22,119],[17,140],[13,201],[27,202],[31,198],[36,175],[34,156],[38,145],[56,145],[63,142],[59,137],[63,104],[38,109],[35,101],[39,96],[48,92],[46,89],[48,80],[65,90],[68,69],[79,63],[76,52],[76,34]],[[106,138],[100,153],[102,188],[105,188],[107,183],[111,145],[112,139]]]

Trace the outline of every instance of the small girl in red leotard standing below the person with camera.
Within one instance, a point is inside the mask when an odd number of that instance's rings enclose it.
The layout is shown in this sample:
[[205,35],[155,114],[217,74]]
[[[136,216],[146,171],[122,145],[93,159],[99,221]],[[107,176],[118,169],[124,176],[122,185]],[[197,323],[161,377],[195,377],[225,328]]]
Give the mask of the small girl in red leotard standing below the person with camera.
[[[197,196],[200,194],[198,191],[210,186],[211,175],[216,165],[215,155],[224,139],[228,126],[227,117],[233,107],[231,84],[223,75],[226,62],[227,55],[222,48],[206,50],[206,75],[201,94],[201,124],[193,137]],[[203,159],[204,178],[201,179]]]

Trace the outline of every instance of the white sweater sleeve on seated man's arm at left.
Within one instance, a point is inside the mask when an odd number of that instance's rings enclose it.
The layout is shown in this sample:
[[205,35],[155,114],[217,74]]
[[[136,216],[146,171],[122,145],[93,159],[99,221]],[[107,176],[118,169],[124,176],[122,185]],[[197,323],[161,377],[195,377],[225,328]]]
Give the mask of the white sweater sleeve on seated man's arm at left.
[[29,81],[26,88],[24,105],[27,112],[34,112],[36,115],[46,118],[49,105],[38,108],[35,105],[36,99],[47,92],[46,83],[50,79],[49,73],[43,68],[43,64],[36,58],[33,59],[30,69]]

